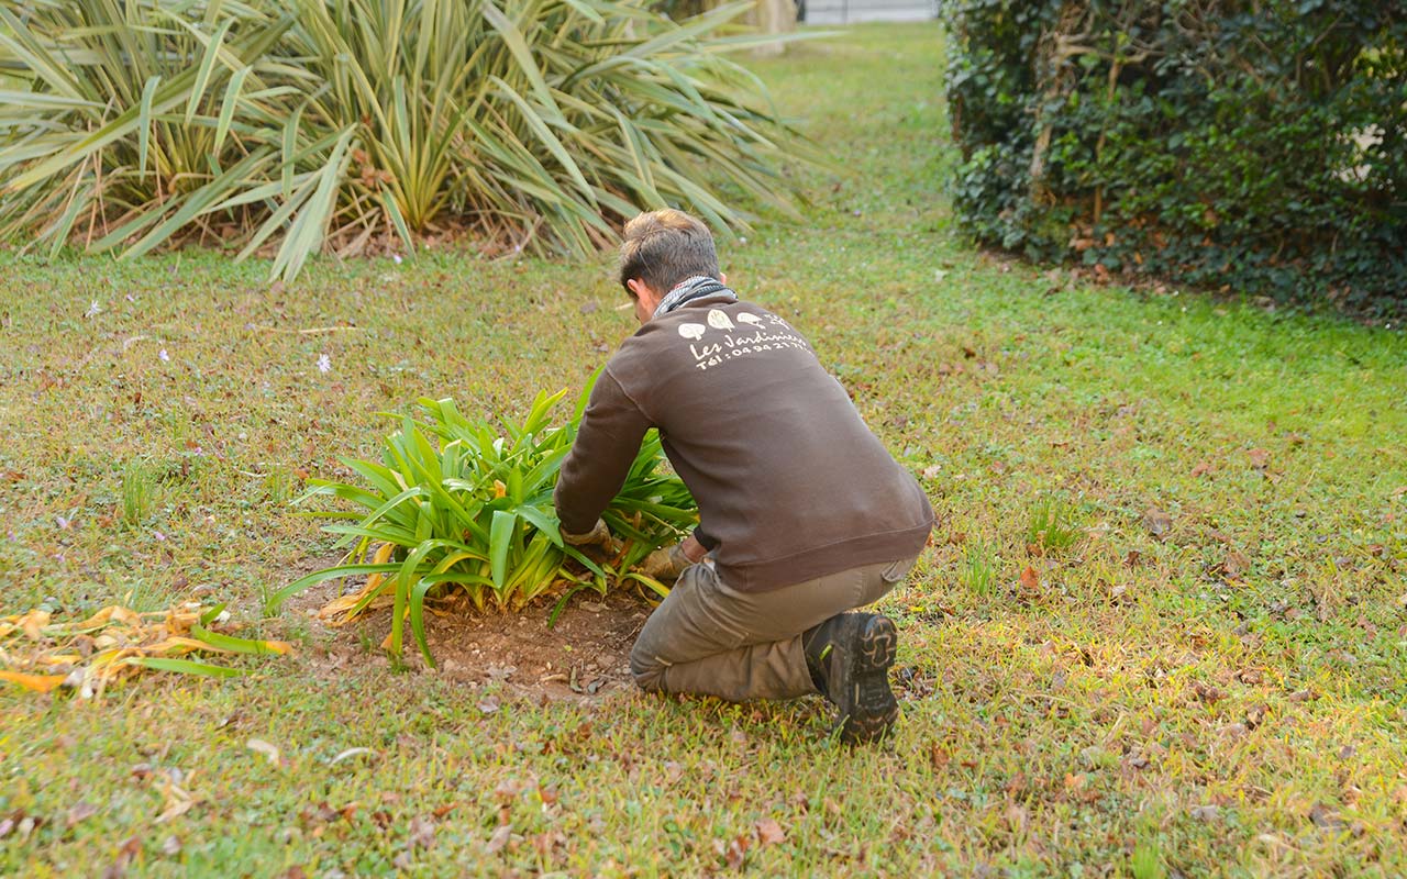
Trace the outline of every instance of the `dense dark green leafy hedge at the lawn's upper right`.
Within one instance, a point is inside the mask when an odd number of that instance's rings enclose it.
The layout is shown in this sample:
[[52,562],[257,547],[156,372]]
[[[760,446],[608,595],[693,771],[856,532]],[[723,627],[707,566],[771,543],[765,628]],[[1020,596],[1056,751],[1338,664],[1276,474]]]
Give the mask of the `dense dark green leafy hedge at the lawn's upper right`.
[[1407,4],[946,0],[983,240],[1279,301],[1407,309]]

